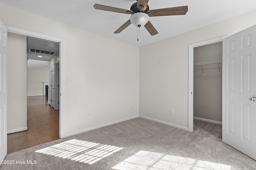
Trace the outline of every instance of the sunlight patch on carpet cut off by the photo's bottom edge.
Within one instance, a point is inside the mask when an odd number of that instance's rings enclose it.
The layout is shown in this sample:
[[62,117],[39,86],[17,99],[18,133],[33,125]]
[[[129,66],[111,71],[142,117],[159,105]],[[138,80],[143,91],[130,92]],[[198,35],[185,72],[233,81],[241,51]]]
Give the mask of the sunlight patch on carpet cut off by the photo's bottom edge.
[[140,150],[112,167],[115,170],[230,170],[231,166]]

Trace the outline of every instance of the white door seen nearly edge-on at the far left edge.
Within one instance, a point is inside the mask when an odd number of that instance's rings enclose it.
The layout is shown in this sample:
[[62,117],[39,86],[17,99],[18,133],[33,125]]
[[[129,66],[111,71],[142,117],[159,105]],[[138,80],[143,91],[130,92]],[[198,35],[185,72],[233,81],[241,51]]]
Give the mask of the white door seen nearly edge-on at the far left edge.
[[7,29],[0,20],[0,160],[7,154]]

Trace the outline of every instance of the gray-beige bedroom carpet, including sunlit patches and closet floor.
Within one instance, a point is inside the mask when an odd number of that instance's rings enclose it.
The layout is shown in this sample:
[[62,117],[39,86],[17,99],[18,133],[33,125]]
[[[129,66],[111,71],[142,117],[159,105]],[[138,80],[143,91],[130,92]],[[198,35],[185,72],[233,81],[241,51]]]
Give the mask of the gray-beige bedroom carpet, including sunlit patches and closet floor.
[[188,132],[135,118],[7,154],[1,170],[256,170],[222,142],[222,126],[194,120]]

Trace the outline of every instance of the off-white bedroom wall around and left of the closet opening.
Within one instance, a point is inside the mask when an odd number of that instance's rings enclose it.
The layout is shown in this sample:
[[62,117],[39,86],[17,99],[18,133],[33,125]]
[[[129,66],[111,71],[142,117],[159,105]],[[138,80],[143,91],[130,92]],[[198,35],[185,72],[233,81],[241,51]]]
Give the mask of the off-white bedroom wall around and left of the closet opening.
[[254,10],[140,47],[140,115],[188,128],[188,45],[255,24]]

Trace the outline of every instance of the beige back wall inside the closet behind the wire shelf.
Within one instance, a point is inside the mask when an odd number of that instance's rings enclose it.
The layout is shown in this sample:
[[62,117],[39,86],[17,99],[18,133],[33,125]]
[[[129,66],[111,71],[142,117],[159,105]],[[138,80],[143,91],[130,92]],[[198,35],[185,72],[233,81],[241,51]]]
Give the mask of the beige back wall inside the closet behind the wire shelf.
[[[222,42],[194,48],[194,64],[212,61],[222,61]],[[194,117],[222,122],[222,64],[202,68],[194,66]]]

